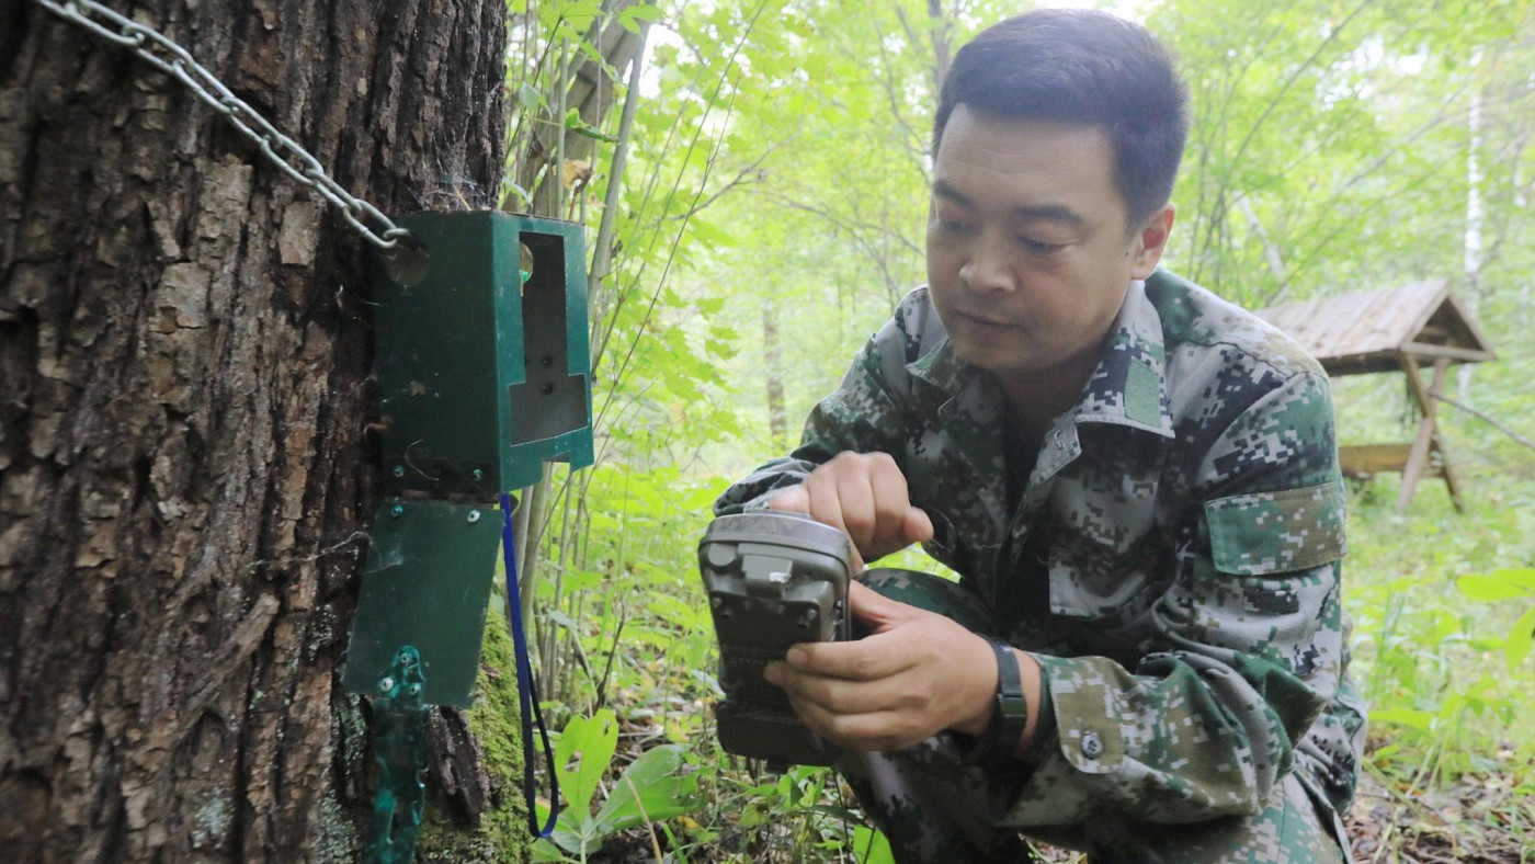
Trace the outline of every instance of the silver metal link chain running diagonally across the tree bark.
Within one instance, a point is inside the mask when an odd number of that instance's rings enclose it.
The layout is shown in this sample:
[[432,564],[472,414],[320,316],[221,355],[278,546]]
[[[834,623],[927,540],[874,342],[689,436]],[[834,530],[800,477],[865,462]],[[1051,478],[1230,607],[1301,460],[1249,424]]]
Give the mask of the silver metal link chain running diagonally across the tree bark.
[[[80,25],[111,43],[132,49],[134,54],[155,69],[180,80],[192,91],[192,95],[223,114],[235,129],[239,129],[247,138],[255,141],[261,147],[261,152],[282,169],[284,173],[335,204],[341,210],[342,218],[352,227],[358,229],[373,246],[388,250],[399,246],[402,238],[410,236],[408,230],[398,227],[378,207],[342,189],[339,183],[325,173],[319,160],[304,147],[299,147],[296,141],[278,132],[253,107],[241,101],[223,81],[193,60],[187,49],[170,41],[158,31],[146,28],[94,0],[37,0],[37,3],[66,21]],[[103,25],[103,20],[111,26]],[[161,57],[155,49],[169,57]],[[381,230],[373,230],[368,227],[368,223]]]

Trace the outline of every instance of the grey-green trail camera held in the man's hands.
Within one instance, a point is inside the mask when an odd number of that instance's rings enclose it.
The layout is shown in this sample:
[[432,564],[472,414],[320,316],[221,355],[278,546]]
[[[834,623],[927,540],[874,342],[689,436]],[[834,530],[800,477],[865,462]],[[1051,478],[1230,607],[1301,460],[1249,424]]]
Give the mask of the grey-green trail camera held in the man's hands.
[[852,638],[846,534],[798,513],[721,516],[698,542],[698,569],[720,640],[717,711],[726,752],[769,766],[829,766],[840,750],[794,715],[789,697],[763,678],[801,641]]

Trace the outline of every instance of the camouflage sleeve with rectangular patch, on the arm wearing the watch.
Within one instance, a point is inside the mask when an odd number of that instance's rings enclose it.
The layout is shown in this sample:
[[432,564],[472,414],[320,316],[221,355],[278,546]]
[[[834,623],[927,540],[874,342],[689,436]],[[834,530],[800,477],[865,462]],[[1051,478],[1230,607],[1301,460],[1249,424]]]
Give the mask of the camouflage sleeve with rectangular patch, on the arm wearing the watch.
[[1326,378],[1294,371],[1199,457],[1136,657],[1035,655],[1058,727],[1007,824],[1257,813],[1337,692],[1345,497]]

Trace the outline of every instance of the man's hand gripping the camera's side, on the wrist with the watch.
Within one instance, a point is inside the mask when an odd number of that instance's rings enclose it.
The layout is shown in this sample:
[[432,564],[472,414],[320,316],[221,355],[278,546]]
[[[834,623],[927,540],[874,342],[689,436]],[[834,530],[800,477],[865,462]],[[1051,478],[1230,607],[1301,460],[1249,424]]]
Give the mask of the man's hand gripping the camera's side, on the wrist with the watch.
[[797,645],[766,678],[789,692],[800,721],[850,750],[910,747],[944,729],[979,735],[992,720],[996,655],[944,615],[849,585],[870,635]]

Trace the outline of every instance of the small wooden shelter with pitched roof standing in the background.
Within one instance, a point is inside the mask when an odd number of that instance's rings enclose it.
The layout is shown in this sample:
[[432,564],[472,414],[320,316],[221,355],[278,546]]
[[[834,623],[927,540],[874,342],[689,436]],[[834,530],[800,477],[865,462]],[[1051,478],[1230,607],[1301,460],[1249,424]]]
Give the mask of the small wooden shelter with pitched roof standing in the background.
[[[1443,477],[1455,508],[1461,506],[1460,482],[1434,424],[1435,396],[1452,364],[1490,361],[1495,355],[1446,279],[1276,305],[1257,315],[1300,342],[1328,374],[1405,373],[1421,411],[1417,436],[1408,444],[1340,447],[1339,462],[1351,477],[1400,471],[1398,506],[1412,502],[1424,473]],[[1432,368],[1428,385],[1420,371],[1424,365]]]

